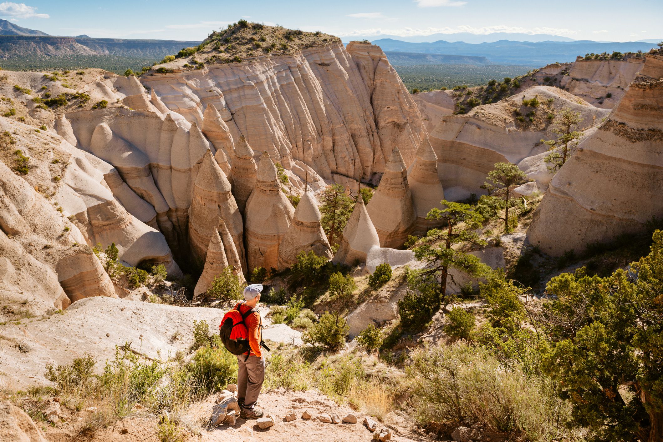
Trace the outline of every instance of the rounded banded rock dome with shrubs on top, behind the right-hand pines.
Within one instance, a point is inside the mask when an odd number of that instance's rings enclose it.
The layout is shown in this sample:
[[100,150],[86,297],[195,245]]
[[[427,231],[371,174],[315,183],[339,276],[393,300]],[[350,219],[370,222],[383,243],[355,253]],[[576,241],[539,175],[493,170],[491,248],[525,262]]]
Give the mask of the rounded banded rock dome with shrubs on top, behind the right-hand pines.
[[[522,104],[523,97],[535,96],[541,103],[538,107]],[[443,117],[430,134],[430,142],[438,156],[438,175],[446,199],[458,201],[470,193],[484,194],[480,186],[496,162],[536,160],[521,169],[531,169],[535,174],[531,178],[545,190],[552,176],[543,162],[548,146],[540,140],[557,137],[548,114],[556,115],[563,107],[580,113],[580,128],[585,131],[599,125],[609,113],[557,87],[534,86],[498,103],[477,106],[465,115]],[[530,112],[534,112],[533,121],[525,117]]]

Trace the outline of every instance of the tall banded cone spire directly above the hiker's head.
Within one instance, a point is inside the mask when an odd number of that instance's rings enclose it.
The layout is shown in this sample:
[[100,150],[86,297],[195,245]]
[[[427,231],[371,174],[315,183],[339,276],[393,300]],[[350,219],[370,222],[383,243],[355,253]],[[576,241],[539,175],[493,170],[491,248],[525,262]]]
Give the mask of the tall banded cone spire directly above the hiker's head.
[[288,232],[294,207],[281,192],[276,166],[267,152],[261,156],[255,190],[245,209],[247,272],[278,268],[278,246]]

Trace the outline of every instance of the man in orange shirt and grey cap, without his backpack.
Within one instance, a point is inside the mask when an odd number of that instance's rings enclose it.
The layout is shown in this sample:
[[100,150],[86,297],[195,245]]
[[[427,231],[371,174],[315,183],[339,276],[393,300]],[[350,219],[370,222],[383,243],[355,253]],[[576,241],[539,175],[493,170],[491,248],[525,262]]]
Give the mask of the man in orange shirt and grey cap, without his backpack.
[[239,408],[241,408],[239,417],[244,419],[263,417],[263,410],[255,408],[265,380],[265,358],[260,348],[263,341],[261,317],[260,313],[255,310],[262,291],[262,284],[247,286],[244,289],[245,302],[235,305],[235,309],[239,310],[242,316],[253,310],[244,319],[249,332],[249,347],[251,347],[251,350],[237,357],[237,364],[239,365],[237,372],[237,402],[239,402]]

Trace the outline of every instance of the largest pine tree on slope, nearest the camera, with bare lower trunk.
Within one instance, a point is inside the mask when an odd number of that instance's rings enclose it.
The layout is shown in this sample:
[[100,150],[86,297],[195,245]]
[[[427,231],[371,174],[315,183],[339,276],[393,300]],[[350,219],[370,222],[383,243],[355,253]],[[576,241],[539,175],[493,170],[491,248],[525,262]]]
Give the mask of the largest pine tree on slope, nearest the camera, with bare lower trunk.
[[429,230],[426,237],[421,239],[421,245],[414,248],[414,256],[426,263],[418,276],[422,280],[427,276],[440,280],[438,305],[444,305],[451,268],[471,276],[479,276],[488,270],[476,256],[464,252],[460,247],[453,247],[459,243],[485,245],[485,241],[475,232],[481,227],[483,216],[469,204],[452,203],[444,199],[441,204],[445,208],[431,209],[426,219],[444,221],[442,227]]

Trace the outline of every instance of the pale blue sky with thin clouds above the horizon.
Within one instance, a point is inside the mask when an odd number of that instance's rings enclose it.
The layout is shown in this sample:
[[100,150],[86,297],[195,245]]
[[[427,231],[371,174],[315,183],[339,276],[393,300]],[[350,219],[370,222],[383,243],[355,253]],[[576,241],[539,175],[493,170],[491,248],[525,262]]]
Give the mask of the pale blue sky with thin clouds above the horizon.
[[52,35],[202,40],[245,18],[335,35],[525,32],[575,40],[663,38],[661,0],[28,0],[0,18]]

